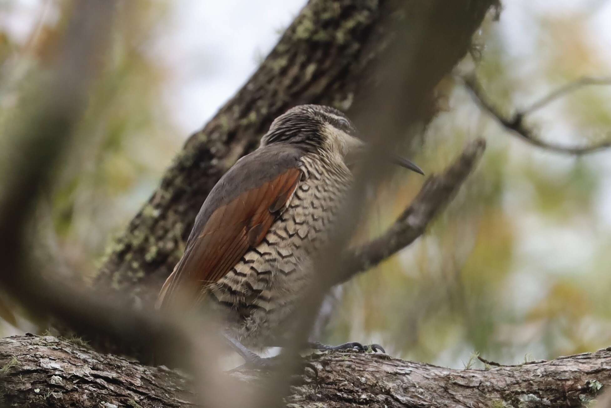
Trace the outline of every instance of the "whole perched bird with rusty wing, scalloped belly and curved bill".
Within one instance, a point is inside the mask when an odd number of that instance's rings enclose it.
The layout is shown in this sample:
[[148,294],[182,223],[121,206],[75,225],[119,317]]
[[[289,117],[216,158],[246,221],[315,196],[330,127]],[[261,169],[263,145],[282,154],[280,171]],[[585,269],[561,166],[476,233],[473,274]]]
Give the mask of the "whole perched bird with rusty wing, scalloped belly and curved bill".
[[[240,158],[203,202],[156,308],[213,310],[247,362],[258,358],[254,351],[281,346],[313,277],[313,256],[329,240],[353,183],[351,169],[365,150],[338,109],[298,105],[278,116],[260,146]],[[409,160],[392,161],[424,174]]]

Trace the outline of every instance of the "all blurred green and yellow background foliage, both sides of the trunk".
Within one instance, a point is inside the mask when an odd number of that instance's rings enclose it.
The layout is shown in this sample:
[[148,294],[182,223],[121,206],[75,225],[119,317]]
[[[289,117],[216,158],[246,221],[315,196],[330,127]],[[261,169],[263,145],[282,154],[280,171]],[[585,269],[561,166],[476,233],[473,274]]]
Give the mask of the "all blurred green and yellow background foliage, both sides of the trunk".
[[[10,12],[6,4],[0,7]],[[53,57],[69,9],[59,4],[57,21],[41,23],[26,41],[0,31],[0,125]],[[478,34],[481,56],[458,67],[474,70],[507,114],[580,76],[605,75],[611,64],[609,49],[593,41],[587,10],[543,13],[527,4],[506,2],[501,20],[486,21]],[[186,136],[163,102],[172,72],[150,53],[172,3],[122,7],[112,58],[100,61],[103,76],[78,127],[83,137],[40,208],[43,245],[81,276],[95,270],[109,237],[145,202]],[[516,16],[524,21],[510,20]],[[524,35],[513,35],[519,30]],[[567,145],[609,138],[610,92],[585,87],[533,114],[529,125]],[[473,351],[518,363],[525,355],[609,346],[611,151],[580,158],[545,152],[481,113],[459,82],[448,79],[442,94],[446,108],[411,158],[428,173],[439,171],[476,136],[488,139],[485,157],[426,236],[345,285],[324,340],[381,343],[393,355],[455,367]],[[376,191],[359,239],[384,231],[422,182],[398,172]]]

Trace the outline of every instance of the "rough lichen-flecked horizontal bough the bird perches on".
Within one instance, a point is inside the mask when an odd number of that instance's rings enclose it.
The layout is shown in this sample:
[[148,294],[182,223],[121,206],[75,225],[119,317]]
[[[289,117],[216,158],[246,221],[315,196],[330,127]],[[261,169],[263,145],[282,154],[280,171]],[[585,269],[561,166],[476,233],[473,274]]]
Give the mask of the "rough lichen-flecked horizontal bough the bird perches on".
[[[611,386],[611,347],[548,362],[448,369],[382,354],[306,357],[290,407],[579,407]],[[189,407],[189,380],[52,336],[0,339],[0,395],[16,407]],[[235,379],[252,384],[258,372]],[[265,376],[263,376],[265,377]]]

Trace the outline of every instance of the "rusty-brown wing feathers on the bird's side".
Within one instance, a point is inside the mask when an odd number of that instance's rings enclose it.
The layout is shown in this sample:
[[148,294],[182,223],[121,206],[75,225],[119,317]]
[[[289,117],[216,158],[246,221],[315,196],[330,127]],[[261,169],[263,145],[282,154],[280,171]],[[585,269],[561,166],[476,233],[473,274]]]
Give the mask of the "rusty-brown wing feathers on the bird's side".
[[189,237],[183,258],[159,292],[158,307],[173,302],[178,292],[197,299],[202,289],[225,276],[249,248],[257,247],[287,205],[299,179],[299,169],[288,169],[214,210],[201,231],[193,231]]

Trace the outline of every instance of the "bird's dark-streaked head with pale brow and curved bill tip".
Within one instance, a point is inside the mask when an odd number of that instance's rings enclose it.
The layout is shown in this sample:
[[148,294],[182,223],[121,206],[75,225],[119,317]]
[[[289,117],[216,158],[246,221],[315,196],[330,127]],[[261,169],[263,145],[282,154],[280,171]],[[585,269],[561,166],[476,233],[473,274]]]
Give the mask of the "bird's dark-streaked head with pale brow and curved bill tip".
[[[367,150],[353,123],[342,111],[323,105],[299,105],[278,116],[261,146],[289,143],[315,154],[325,153],[340,158],[347,166],[354,165]],[[393,163],[424,174],[409,160],[387,155]]]

